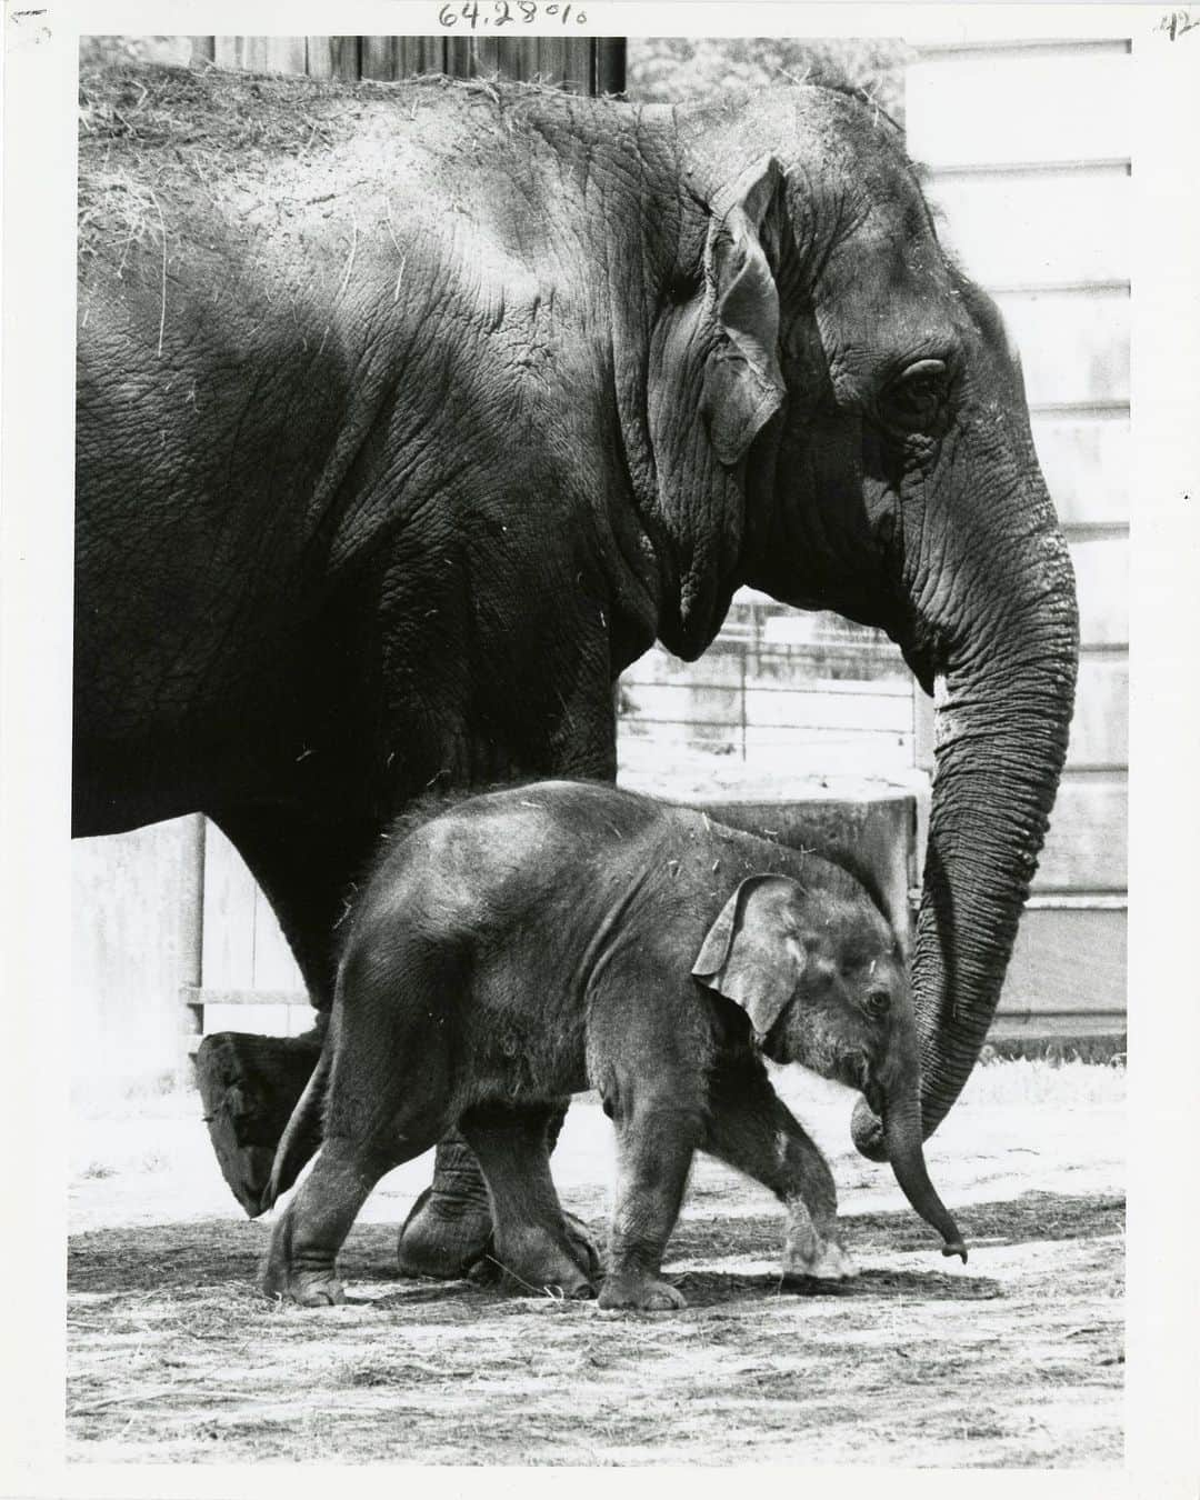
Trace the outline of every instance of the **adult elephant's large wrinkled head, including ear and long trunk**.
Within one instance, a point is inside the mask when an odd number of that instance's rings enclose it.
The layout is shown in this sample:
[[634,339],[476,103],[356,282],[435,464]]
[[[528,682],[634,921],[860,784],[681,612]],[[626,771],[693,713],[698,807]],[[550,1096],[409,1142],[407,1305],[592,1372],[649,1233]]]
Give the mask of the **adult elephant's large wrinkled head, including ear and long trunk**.
[[[885,630],[936,704],[912,988],[928,1136],[992,1022],[1066,753],[1077,609],[998,309],[938,242],[898,130],[825,88],[696,106],[648,360],[660,633],[734,590]],[[880,1160],[878,1118],[855,1140]]]

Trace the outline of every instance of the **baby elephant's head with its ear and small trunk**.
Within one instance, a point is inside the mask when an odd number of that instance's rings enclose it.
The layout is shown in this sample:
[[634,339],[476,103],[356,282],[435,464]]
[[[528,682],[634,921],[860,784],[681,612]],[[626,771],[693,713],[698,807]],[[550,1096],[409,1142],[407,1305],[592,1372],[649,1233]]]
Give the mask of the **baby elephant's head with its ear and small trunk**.
[[774,1062],[802,1064],[866,1094],[904,1197],[945,1239],[942,1254],[966,1260],[926,1172],[904,963],[867,892],[842,872],[812,888],[752,874],[710,927],[692,972],[742,1006]]

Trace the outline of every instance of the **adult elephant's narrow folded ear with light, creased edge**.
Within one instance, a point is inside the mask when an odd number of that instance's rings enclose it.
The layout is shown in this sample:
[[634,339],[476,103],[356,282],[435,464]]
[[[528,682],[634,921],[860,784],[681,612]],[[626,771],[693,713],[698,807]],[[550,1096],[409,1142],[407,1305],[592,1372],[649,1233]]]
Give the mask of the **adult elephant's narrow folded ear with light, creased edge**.
[[760,238],[782,178],[774,156],[744,172],[714,204],[705,248],[720,338],[705,364],[700,414],[717,458],[729,466],[783,404],[778,291]]

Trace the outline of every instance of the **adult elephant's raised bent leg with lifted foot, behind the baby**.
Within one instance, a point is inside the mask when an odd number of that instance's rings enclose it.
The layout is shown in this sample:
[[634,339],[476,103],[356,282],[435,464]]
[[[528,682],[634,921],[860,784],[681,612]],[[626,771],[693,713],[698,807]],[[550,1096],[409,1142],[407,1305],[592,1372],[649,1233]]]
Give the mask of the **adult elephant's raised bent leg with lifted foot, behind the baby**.
[[234,1197],[254,1216],[261,1212],[274,1148],[321,1056],[334,928],[375,830],[362,822],[322,825],[278,807],[225,808],[213,819],[267,894],[318,1011],[316,1028],[303,1036],[216,1032],[196,1050],[213,1150]]

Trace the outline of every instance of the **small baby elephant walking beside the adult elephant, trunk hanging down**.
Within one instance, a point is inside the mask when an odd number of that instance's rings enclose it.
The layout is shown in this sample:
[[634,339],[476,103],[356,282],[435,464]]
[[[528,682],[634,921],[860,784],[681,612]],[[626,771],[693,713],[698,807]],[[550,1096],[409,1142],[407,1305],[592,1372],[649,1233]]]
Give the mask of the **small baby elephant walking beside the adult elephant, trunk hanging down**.
[[512,788],[398,826],[358,897],[326,1052],[279,1144],[266,1206],[324,1137],[274,1227],[264,1286],[342,1300],[334,1257],[368,1194],[458,1125],[512,1281],[590,1294],[546,1140],[590,1084],[618,1137],[602,1306],[684,1305],[660,1264],[698,1148],[782,1200],[784,1274],[854,1275],[830,1168],[762,1054],[866,1094],[909,1202],[944,1254],[966,1260],[921,1154],[902,958],[858,880],[591,783]]

